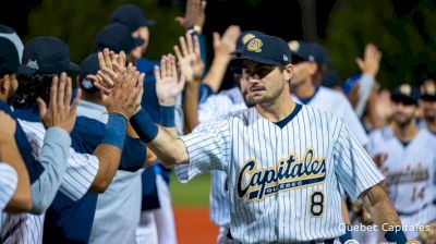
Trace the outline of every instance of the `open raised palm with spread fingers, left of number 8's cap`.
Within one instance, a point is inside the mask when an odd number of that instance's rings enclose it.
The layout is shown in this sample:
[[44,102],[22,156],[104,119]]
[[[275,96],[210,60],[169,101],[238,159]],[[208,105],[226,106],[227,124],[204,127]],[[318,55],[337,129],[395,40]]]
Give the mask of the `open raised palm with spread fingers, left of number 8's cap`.
[[179,38],[180,48],[174,46],[174,53],[178,59],[180,71],[186,82],[199,82],[205,65],[199,52],[199,41],[196,35],[186,33],[185,37]]

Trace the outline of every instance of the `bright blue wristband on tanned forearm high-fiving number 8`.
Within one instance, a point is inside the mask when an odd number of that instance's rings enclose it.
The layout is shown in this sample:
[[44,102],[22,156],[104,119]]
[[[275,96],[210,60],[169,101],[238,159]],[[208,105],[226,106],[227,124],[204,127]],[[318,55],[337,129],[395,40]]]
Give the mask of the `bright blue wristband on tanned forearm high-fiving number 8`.
[[121,114],[110,113],[101,143],[116,146],[122,150],[128,120]]

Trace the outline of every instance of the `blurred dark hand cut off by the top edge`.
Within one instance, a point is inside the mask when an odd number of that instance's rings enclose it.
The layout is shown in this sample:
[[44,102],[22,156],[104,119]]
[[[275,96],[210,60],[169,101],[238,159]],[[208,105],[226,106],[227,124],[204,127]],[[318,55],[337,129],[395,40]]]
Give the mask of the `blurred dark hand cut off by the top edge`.
[[186,30],[194,25],[203,28],[206,21],[206,1],[205,0],[187,0],[184,17],[175,17],[175,21]]

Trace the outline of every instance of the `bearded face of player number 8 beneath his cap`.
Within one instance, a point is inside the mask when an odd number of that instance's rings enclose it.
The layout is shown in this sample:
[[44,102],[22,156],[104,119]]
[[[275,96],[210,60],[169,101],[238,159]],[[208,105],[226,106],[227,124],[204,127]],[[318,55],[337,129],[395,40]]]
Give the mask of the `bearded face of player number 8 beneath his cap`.
[[266,65],[245,60],[242,65],[241,90],[247,103],[274,102],[292,76],[292,65]]

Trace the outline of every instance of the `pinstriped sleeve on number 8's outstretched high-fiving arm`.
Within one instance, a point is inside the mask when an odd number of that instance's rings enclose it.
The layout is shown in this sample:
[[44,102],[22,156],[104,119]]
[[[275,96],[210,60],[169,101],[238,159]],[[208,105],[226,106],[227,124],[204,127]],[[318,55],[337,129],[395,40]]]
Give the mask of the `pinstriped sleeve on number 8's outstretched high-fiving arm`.
[[231,133],[227,120],[198,125],[193,133],[180,137],[185,144],[189,163],[175,167],[182,183],[211,170],[225,170],[229,163]]

